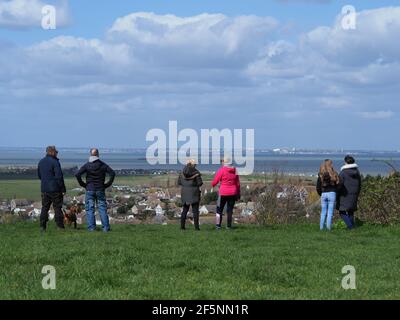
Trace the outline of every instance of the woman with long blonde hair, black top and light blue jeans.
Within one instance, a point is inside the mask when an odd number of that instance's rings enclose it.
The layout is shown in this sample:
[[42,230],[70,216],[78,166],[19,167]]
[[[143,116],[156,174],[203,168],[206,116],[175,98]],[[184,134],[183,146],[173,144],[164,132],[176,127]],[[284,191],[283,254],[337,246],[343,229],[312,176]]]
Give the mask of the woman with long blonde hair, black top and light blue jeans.
[[325,160],[319,169],[317,192],[321,196],[321,231],[326,227],[332,229],[332,218],[336,204],[336,194],[339,188],[340,178],[330,159]]

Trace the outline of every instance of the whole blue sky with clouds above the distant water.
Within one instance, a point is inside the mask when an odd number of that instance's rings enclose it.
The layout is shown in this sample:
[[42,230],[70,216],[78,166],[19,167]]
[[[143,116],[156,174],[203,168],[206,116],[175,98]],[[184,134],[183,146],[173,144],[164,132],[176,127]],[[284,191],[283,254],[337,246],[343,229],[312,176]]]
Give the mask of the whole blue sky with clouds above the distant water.
[[399,3],[0,0],[0,146],[146,147],[177,120],[255,129],[257,147],[400,149]]

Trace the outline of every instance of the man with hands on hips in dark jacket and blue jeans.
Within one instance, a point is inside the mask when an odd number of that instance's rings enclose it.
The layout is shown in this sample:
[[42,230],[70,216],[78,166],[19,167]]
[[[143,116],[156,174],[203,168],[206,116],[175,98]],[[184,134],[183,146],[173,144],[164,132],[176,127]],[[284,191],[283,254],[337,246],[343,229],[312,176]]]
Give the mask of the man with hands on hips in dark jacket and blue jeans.
[[[82,175],[86,174],[86,182],[82,180]],[[106,183],[106,175],[109,181]],[[96,230],[95,210],[96,202],[99,210],[103,231],[110,231],[110,222],[107,214],[107,200],[105,190],[112,186],[115,172],[99,158],[99,150],[90,150],[89,162],[86,163],[75,175],[79,184],[86,189],[86,216],[88,230]]]

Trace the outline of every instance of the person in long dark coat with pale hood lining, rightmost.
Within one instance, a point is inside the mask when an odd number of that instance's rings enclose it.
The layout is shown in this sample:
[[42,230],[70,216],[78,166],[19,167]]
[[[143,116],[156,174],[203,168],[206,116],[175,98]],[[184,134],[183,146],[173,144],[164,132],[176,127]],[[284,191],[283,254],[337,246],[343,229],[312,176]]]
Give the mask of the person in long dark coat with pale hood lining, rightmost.
[[346,156],[340,172],[338,209],[348,229],[355,228],[354,212],[357,211],[361,192],[361,174],[352,156]]

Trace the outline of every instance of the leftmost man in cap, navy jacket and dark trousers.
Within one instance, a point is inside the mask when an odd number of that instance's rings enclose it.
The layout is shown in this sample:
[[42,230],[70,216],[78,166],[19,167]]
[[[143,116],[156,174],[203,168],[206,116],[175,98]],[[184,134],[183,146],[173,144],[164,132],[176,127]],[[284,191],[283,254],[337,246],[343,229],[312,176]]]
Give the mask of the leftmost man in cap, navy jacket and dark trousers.
[[40,214],[40,228],[42,231],[46,231],[51,205],[54,208],[54,220],[57,227],[64,229],[62,205],[66,189],[57,155],[58,151],[55,146],[47,147],[46,157],[40,160],[38,165],[38,177],[41,181],[42,192],[42,212]]

